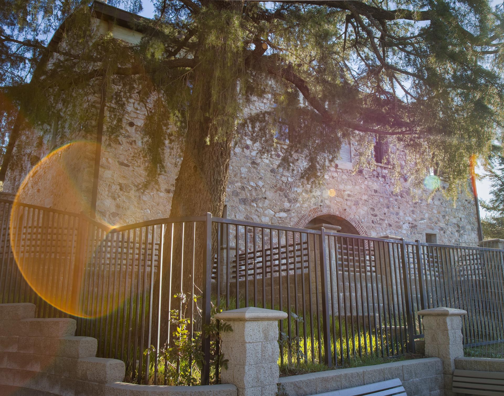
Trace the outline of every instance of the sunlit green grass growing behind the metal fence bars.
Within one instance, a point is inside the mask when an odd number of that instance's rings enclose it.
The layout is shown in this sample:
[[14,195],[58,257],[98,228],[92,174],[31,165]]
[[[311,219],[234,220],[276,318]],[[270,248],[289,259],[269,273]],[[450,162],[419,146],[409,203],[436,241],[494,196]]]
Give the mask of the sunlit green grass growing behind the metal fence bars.
[[[93,299],[95,306],[98,305],[97,298],[98,296],[95,296]],[[142,368],[141,382],[153,384],[155,377],[154,356],[151,355],[149,362],[147,362],[147,355],[144,354],[144,348],[148,347],[148,345],[142,345],[145,341],[142,340],[140,336],[142,319],[144,320],[145,331],[147,331],[148,327],[149,296],[146,296],[146,300],[142,297],[139,299],[137,298],[138,296],[135,295],[131,299],[123,301],[118,307],[116,305],[114,311],[110,312],[108,320],[106,317],[79,319],[80,323],[78,329],[81,330],[80,332],[82,333],[79,335],[90,335],[99,339],[98,356],[113,358],[117,353],[117,357],[122,358],[122,360],[127,363],[127,375],[125,380],[137,382],[140,366]],[[228,309],[233,309],[237,305],[238,307],[244,307],[246,305],[245,301],[244,298],[240,298],[238,304],[236,304],[236,299],[232,298],[230,299]],[[213,299],[212,303],[215,305],[215,299]],[[248,305],[253,306],[253,300],[250,300]],[[219,308],[223,310],[226,309],[225,299],[221,300]],[[270,303],[267,304],[265,308],[279,310],[280,307],[278,304],[271,306]],[[282,308],[283,311],[287,311],[285,306]],[[126,312],[126,322],[124,322],[124,311]],[[132,314],[131,316],[130,313]],[[391,325],[389,322],[386,323],[382,320],[382,323],[376,323],[376,325],[371,323],[371,329],[369,329],[369,324],[365,321],[366,318],[362,316],[359,319],[354,317],[353,322],[350,317],[347,317],[346,321],[345,318],[342,317],[340,326],[338,317],[334,319],[334,323],[333,318],[331,318],[329,323],[331,338],[330,353],[335,367],[357,367],[404,359],[404,357],[399,356],[405,352],[404,334],[401,338],[401,335],[398,333],[396,338],[395,335],[387,335],[385,331],[381,332],[380,330],[384,325]],[[135,328],[135,323],[137,322],[139,322],[138,329]],[[322,315],[319,316],[317,313],[313,313],[310,316],[309,312],[307,312],[303,318],[292,311],[290,312],[290,320],[284,319],[281,321],[281,356],[279,358],[281,375],[295,375],[330,369],[323,364],[324,341],[322,323]],[[399,325],[399,323],[396,324]],[[124,334],[123,326],[125,330]],[[138,331],[136,336],[135,330]],[[123,337],[125,345],[121,347]],[[134,353],[135,340],[137,340],[136,353]],[[128,341],[130,341],[131,344],[128,344]],[[127,353],[128,350],[130,352],[129,354]],[[128,355],[129,359],[127,359]],[[336,359],[335,356],[337,357]],[[134,359],[135,370],[133,370]],[[126,360],[129,361],[126,362]],[[169,385],[181,384],[180,372],[185,372],[185,379],[183,379],[185,383],[198,384],[200,382],[200,368],[194,362],[190,365],[186,356],[180,356],[178,361],[174,363],[165,362],[162,358],[158,359],[157,384],[164,383],[165,371],[166,373],[170,373],[167,375],[166,382]],[[165,367],[165,364],[168,365],[170,363],[171,366],[169,368]],[[173,364],[176,364],[177,367],[174,368]],[[146,370],[148,371],[147,376]],[[215,366],[212,365],[212,382],[215,382],[215,374]]]

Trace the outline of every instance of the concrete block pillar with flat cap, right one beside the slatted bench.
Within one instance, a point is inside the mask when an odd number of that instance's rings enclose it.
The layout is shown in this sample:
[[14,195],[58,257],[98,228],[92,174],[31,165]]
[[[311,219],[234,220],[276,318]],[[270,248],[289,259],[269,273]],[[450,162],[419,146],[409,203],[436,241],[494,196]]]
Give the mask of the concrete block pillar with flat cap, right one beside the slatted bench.
[[464,356],[462,315],[467,315],[467,312],[439,307],[418,311],[418,315],[423,316],[425,357],[441,359],[445,376],[445,396],[451,396],[455,359]]

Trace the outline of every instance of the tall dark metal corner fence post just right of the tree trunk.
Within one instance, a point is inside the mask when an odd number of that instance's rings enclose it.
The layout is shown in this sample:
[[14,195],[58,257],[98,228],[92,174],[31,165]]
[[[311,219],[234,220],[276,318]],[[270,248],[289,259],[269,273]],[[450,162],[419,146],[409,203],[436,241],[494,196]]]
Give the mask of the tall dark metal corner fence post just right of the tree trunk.
[[210,336],[206,326],[210,325],[211,292],[212,292],[212,213],[207,213],[205,219],[205,245],[203,248],[205,260],[205,275],[203,281],[203,315],[201,329],[201,351],[204,364],[201,369],[201,384],[210,385]]

